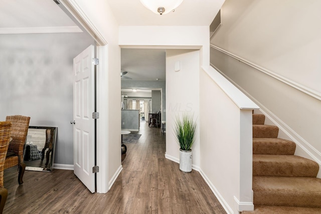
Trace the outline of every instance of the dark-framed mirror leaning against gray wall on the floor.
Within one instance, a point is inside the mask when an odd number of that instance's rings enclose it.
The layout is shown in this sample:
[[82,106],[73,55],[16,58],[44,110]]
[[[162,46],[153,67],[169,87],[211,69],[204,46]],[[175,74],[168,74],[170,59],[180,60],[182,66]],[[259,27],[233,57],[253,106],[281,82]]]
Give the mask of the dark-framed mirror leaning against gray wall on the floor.
[[57,127],[29,126],[25,145],[26,170],[52,171],[55,159]]

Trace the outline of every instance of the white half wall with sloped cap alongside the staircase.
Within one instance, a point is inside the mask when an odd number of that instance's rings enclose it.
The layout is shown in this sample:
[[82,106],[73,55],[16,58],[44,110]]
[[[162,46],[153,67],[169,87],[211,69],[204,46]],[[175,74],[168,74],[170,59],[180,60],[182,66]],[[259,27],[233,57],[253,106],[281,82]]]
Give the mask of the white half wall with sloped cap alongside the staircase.
[[213,68],[205,69],[200,72],[201,174],[228,213],[253,210],[252,109],[258,106]]

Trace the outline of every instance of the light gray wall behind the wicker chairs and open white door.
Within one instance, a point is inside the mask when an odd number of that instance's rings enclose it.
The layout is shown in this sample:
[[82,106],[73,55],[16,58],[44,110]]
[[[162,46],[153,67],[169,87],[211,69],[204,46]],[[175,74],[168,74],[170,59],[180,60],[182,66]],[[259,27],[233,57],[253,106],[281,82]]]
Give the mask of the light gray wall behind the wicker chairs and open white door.
[[90,44],[84,33],[0,35],[0,120],[57,126],[55,163],[73,164],[73,58]]

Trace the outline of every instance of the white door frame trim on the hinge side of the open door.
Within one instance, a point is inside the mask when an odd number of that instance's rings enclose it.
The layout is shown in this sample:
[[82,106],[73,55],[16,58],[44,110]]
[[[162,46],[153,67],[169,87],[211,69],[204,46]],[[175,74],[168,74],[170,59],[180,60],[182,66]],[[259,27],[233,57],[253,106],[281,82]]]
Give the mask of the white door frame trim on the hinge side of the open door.
[[109,190],[108,182],[108,45],[106,40],[92,25],[86,14],[78,7],[75,0],[58,0],[59,7],[75,22],[79,23],[84,31],[87,31],[97,43],[97,58],[99,64],[96,67],[96,111],[99,119],[96,122],[96,164],[99,172],[96,173],[96,191],[106,193]]

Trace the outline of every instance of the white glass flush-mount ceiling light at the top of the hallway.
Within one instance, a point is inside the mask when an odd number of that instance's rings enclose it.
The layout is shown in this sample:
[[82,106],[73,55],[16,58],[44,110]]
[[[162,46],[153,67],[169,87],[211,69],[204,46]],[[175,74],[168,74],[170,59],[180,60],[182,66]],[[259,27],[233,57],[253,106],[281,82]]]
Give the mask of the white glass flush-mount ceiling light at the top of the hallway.
[[183,0],[140,0],[140,2],[155,14],[162,15],[174,11],[182,4]]

